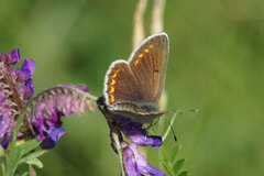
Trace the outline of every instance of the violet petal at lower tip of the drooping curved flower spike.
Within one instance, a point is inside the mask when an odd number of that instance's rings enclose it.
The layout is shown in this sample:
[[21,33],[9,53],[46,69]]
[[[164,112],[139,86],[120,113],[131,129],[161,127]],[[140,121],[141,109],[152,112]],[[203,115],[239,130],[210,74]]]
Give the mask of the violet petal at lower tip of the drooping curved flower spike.
[[66,133],[66,130],[59,128],[50,128],[48,136],[42,142],[42,148],[48,150],[55,146],[56,142]]

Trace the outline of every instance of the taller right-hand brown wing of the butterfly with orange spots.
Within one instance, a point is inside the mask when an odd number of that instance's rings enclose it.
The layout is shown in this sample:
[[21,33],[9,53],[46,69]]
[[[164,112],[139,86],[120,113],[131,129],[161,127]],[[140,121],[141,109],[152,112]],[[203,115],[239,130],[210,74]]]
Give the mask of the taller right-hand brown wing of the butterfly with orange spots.
[[168,37],[156,34],[146,38],[129,59],[140,88],[141,102],[157,105],[165,84],[168,61]]

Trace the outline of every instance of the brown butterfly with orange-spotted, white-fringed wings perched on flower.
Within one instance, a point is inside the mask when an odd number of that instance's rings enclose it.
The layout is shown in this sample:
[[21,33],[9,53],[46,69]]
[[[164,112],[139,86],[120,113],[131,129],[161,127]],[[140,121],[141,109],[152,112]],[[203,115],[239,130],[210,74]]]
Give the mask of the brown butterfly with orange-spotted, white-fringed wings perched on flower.
[[169,112],[158,108],[164,90],[169,43],[166,33],[145,38],[128,61],[113,62],[105,77],[107,109],[142,123]]

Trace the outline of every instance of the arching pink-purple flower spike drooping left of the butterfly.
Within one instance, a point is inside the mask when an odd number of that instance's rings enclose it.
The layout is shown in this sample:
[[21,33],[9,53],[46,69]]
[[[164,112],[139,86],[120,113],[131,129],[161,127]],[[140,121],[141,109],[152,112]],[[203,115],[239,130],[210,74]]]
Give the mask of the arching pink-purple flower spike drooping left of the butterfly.
[[88,90],[84,85],[62,85],[47,89],[34,98],[37,102],[29,117],[43,148],[54,147],[58,139],[66,133],[61,128],[62,117],[82,113],[91,107],[92,103],[80,96],[84,90]]

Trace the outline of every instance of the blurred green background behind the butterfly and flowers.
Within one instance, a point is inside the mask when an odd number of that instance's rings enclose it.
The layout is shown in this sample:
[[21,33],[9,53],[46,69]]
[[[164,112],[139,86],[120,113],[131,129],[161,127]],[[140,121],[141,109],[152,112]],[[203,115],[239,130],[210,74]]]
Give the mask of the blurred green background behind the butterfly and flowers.
[[[23,59],[36,62],[36,94],[84,82],[101,96],[110,63],[132,52],[136,2],[0,0],[0,53],[19,47]],[[189,175],[264,175],[264,1],[167,0],[164,25],[170,40],[168,109],[200,109],[174,124]],[[98,111],[64,118],[64,128],[68,133],[42,157],[38,175],[119,175]],[[165,147],[173,145],[170,134]]]

